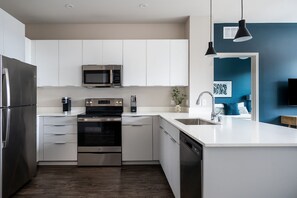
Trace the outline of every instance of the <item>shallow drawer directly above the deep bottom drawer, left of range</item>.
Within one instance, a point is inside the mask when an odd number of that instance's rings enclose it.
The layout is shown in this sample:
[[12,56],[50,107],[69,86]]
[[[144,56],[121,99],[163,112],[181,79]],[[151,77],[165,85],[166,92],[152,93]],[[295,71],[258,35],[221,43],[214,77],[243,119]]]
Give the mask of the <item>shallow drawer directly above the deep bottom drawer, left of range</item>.
[[45,143],[76,143],[77,135],[76,134],[47,134],[44,135],[43,141]]

